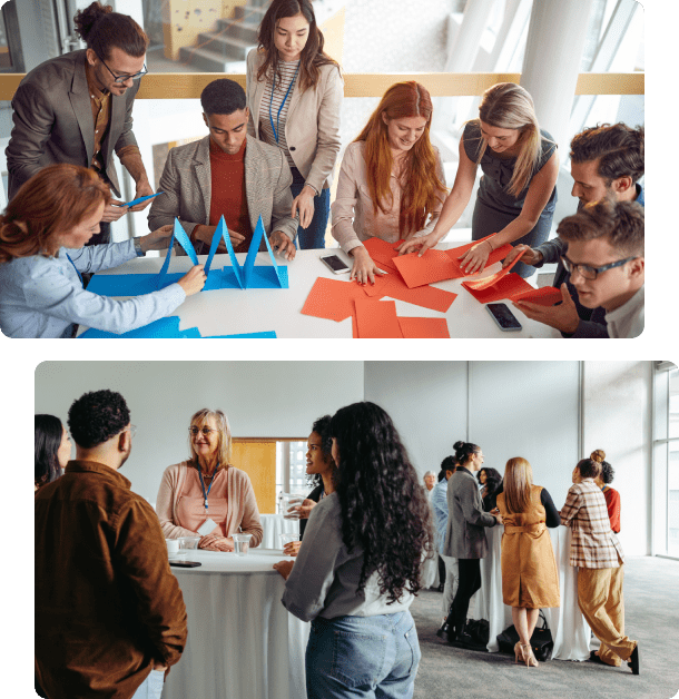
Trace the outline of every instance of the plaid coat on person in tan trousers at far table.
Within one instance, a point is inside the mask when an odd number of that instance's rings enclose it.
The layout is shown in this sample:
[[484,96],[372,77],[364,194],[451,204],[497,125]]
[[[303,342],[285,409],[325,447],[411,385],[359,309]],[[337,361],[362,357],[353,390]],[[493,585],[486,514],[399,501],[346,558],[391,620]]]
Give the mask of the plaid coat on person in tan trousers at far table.
[[568,491],[561,523],[573,532],[571,565],[618,568],[624,560],[618,536],[611,531],[606,498],[593,479],[582,479]]

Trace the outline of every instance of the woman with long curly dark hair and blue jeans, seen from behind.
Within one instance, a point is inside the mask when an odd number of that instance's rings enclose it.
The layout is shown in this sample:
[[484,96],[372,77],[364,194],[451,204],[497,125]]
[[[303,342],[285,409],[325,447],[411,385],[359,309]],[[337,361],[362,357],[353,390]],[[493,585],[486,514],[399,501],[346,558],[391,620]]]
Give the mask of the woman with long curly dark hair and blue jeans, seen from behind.
[[336,491],[318,503],[287,579],[283,604],[312,621],[308,699],[410,698],[420,644],[409,611],[433,548],[432,515],[391,417],[354,403],[331,422]]

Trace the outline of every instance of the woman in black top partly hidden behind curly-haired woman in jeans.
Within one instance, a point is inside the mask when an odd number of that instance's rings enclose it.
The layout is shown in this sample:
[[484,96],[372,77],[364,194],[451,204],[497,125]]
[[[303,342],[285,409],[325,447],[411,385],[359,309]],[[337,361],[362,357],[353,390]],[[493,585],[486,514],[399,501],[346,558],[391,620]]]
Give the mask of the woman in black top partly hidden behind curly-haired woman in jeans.
[[283,552],[286,555],[297,555],[302,539],[304,538],[306,522],[312,510],[325,495],[329,495],[335,490],[334,476],[337,466],[331,454],[333,440],[328,433],[329,424],[329,415],[318,417],[312,426],[312,433],[308,435],[306,474],[309,476],[309,481],[314,483],[315,488],[306,500],[295,508],[295,510],[299,512],[299,541],[292,541],[285,544]]

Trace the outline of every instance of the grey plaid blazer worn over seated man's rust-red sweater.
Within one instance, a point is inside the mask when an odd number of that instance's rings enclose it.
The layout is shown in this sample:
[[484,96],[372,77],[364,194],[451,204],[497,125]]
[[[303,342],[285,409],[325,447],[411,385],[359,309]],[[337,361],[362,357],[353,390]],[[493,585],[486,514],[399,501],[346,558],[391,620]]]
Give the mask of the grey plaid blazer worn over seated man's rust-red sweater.
[[[188,235],[200,224],[209,225],[213,178],[209,136],[173,148],[165,163],[148,226],[151,230],[171,224],[175,216]],[[291,239],[298,220],[291,216],[293,175],[281,148],[247,137],[245,146],[245,196],[253,230],[262,216],[264,230],[282,230]]]

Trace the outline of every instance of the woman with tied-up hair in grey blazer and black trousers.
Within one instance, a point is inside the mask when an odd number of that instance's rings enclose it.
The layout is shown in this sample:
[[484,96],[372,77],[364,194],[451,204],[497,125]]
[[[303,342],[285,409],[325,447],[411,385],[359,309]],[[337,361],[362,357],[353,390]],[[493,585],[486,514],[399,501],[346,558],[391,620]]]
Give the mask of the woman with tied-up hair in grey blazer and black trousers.
[[481,588],[480,559],[488,554],[485,528],[502,523],[500,514],[483,511],[481,493],[473,473],[483,465],[481,447],[469,442],[456,442],[455,459],[459,466],[447,482],[447,529],[444,555],[457,559],[459,584],[449,618],[440,629],[439,636],[449,641],[469,643],[464,634],[469,602]]

